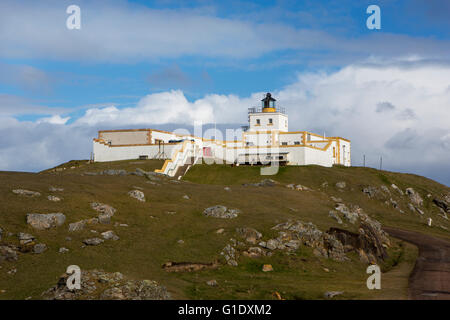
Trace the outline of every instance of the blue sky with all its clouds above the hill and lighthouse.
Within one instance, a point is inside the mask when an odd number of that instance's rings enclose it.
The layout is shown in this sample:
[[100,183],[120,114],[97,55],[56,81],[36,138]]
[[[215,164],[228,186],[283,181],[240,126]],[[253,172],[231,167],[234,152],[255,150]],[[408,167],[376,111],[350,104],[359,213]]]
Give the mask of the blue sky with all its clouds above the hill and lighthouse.
[[271,92],[291,131],[350,139],[352,165],[449,186],[449,17],[446,0],[2,0],[0,170],[88,159],[103,129],[239,127]]

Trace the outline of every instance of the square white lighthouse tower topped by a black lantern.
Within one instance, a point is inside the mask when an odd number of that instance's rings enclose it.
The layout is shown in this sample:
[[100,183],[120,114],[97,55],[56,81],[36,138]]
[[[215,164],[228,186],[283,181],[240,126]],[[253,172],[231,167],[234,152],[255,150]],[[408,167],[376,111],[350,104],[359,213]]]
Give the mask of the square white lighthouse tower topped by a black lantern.
[[288,131],[288,116],[284,108],[276,106],[276,99],[267,93],[261,100],[261,107],[248,109],[249,132]]

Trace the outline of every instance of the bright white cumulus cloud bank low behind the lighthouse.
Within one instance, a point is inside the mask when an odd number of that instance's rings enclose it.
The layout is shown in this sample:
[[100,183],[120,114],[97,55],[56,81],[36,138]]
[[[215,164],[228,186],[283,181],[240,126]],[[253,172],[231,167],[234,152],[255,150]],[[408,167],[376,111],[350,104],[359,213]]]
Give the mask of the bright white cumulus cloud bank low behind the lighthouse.
[[[279,106],[286,108],[290,130],[308,130],[350,139],[353,165],[361,165],[364,154],[366,164],[377,167],[382,156],[385,169],[426,175],[448,185],[449,88],[450,66],[410,61],[406,65],[389,66],[353,64],[333,73],[300,73],[294,83],[273,92],[273,96]],[[67,136],[73,130],[83,131],[79,136],[70,136],[69,140],[73,145],[89,150],[96,129],[152,128],[165,123],[177,123],[182,128],[194,121],[246,124],[247,108],[259,105],[263,94],[258,92],[249,97],[208,94],[194,101],[189,101],[180,90],[150,94],[135,107],[90,108],[70,125],[34,124],[34,134],[30,134],[30,141],[26,143],[31,144],[37,139],[34,143],[39,146],[37,150],[42,151],[42,141],[46,141],[49,149],[43,151],[42,159],[47,159],[51,152],[58,155],[55,159],[59,159],[60,145],[67,141],[60,141],[53,135],[50,137],[48,132],[48,141],[36,138],[50,125],[61,128]],[[389,112],[377,112],[374,106],[380,101],[388,101],[395,107],[388,107]],[[64,118],[54,120],[64,122]],[[21,126],[21,123],[13,126]],[[52,143],[54,145],[50,148]],[[22,148],[20,141],[15,141],[15,145]],[[8,148],[14,146],[11,144]],[[13,161],[10,163],[18,165]]]

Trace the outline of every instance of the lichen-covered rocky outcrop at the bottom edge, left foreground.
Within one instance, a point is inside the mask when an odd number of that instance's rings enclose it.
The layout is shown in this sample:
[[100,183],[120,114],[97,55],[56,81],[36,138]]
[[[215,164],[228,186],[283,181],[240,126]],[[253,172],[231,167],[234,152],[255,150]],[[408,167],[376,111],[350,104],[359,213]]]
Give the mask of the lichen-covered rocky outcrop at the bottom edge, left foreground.
[[81,271],[81,289],[67,288],[68,274],[45,291],[46,300],[168,300],[170,293],[151,280],[127,280],[120,272]]

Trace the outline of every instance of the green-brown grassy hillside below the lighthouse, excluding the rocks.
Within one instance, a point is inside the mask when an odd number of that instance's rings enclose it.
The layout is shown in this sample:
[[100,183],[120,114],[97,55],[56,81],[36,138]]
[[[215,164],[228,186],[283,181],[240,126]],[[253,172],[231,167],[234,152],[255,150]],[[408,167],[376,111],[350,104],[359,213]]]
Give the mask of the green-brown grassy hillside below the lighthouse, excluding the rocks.
[[[95,164],[71,161],[37,174],[0,172],[1,243],[17,244],[15,235],[26,232],[48,246],[44,253],[19,253],[18,261],[0,263],[0,299],[39,299],[72,264],[85,270],[120,271],[129,278],[155,280],[166,286],[176,299],[275,299],[274,292],[286,299],[323,299],[326,291],[343,291],[338,299],[406,298],[407,279],[417,249],[401,241],[393,240],[388,249],[390,258],[382,265],[385,272],[382,290],[366,288],[367,265],[355,253],[347,254],[350,261],[337,262],[317,257],[312,248],[302,246],[293,254],[275,250],[270,257],[242,256],[237,267],[223,263],[220,252],[230,238],[238,239],[236,228],[240,227],[255,228],[264,239],[275,237],[277,231],[272,227],[289,219],[312,222],[323,231],[340,227],[357,232],[357,225],[347,222],[338,225],[329,216],[335,205],[331,196],[360,206],[383,225],[450,237],[449,221],[432,204],[433,197],[447,194],[450,189],[416,175],[357,167],[283,167],[277,175],[269,177],[279,184],[258,187],[243,185],[267,178],[259,175],[258,167],[197,165],[180,182],[164,177],[152,181],[139,175],[96,174],[103,170],[134,172],[137,168],[152,171],[162,163],[157,160]],[[336,187],[339,181],[346,182],[344,189]],[[307,186],[312,191],[291,190],[286,187],[291,183]],[[390,187],[392,183],[403,191],[414,188],[424,200],[425,214],[411,212],[408,198],[397,195]],[[365,186],[380,188],[382,185],[390,188],[403,213],[385,204],[383,199],[369,198],[361,191]],[[51,192],[50,186],[64,190]],[[37,191],[41,195],[17,195],[12,192],[14,189]],[[128,196],[135,189],[144,192],[145,202]],[[428,194],[431,196],[427,197]],[[62,200],[49,201],[49,195]],[[69,223],[96,216],[92,202],[117,209],[112,223],[69,233]],[[242,213],[235,219],[202,214],[205,208],[218,204],[238,208]],[[38,231],[26,223],[27,213],[54,212],[66,215],[64,225]],[[433,218],[432,227],[426,225],[428,217]],[[219,229],[224,231],[217,233]],[[113,230],[120,240],[82,247],[84,239],[99,237],[107,230]],[[69,252],[59,253],[61,247],[68,248]],[[214,270],[173,273],[162,268],[169,261],[208,263],[216,259],[222,264]],[[271,264],[274,271],[262,272],[264,264]],[[13,269],[15,273],[10,272]],[[217,281],[217,286],[206,284],[212,279]]]

